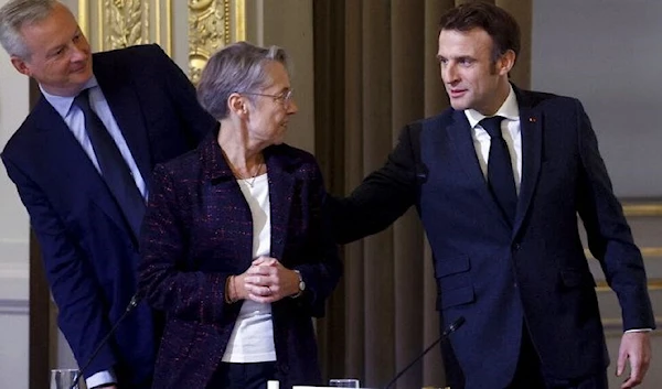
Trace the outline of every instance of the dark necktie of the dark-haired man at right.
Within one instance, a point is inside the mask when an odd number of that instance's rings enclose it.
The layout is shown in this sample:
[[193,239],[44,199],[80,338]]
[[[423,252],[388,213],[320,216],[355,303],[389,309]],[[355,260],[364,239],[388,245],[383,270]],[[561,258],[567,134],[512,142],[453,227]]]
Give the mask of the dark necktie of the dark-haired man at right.
[[480,126],[488,131],[491,138],[490,156],[488,160],[488,185],[512,226],[517,208],[517,192],[515,190],[515,177],[513,176],[513,166],[508,144],[501,136],[502,120],[502,117],[493,116],[482,119]]

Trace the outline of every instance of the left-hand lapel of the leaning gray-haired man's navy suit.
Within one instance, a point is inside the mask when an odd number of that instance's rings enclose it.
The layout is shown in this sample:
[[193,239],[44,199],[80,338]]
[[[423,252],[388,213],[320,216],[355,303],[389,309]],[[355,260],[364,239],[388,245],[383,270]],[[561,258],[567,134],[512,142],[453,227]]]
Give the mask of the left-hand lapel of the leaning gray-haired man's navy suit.
[[40,142],[49,145],[42,148],[35,158],[57,166],[66,175],[66,180],[62,181],[63,185],[81,186],[82,191],[89,192],[90,201],[132,236],[106,183],[57,111],[42,97],[33,115],[36,118]]

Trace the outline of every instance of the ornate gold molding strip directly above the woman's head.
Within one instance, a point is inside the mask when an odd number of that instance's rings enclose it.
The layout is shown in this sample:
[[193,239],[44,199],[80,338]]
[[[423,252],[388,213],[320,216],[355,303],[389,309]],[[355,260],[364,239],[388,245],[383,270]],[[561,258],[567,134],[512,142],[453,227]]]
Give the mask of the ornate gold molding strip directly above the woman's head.
[[197,84],[212,54],[246,39],[245,0],[189,0],[189,76]]

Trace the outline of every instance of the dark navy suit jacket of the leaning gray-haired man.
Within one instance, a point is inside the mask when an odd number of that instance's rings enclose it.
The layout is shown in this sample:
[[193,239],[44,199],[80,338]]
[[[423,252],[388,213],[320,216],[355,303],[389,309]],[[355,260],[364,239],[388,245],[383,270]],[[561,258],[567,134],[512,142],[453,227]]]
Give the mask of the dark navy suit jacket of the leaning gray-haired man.
[[[156,45],[94,54],[94,74],[148,182],[156,163],[194,148],[215,121]],[[62,117],[42,97],[2,152],[30,213],[58,325],[83,365],[136,292],[138,239]],[[86,376],[115,368],[119,386],[148,387],[156,342],[140,304]]]

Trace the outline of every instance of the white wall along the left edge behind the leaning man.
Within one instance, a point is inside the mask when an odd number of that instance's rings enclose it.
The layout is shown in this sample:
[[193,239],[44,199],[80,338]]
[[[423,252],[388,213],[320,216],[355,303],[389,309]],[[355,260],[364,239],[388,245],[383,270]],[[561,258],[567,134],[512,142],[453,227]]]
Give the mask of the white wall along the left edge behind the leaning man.
[[[0,7],[7,0],[0,0]],[[29,111],[29,80],[0,50],[0,149]],[[0,382],[28,388],[29,221],[17,190],[0,168]],[[47,374],[46,371],[44,374]]]

